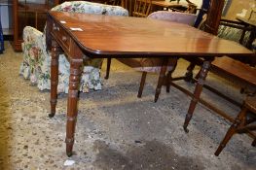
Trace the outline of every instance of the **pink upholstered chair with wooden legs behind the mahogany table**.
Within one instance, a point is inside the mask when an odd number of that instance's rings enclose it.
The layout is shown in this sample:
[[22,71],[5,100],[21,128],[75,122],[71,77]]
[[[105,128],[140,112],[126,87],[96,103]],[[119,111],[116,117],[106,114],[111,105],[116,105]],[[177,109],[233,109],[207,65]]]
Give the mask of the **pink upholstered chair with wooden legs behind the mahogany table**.
[[[162,19],[167,21],[179,22],[184,24],[193,25],[196,20],[196,15],[186,14],[186,13],[177,13],[177,12],[167,12],[167,11],[159,11],[152,13],[148,16],[148,18],[152,19]],[[138,90],[137,97],[141,97],[142,91],[145,85],[146,76],[148,72],[159,73],[159,81],[155,93],[154,101],[157,102],[159,95],[161,93],[161,87],[164,84],[165,71],[168,72],[167,77],[171,75],[171,72],[174,70],[175,65],[177,63],[177,58],[171,58],[169,60],[165,58],[117,58],[120,62],[128,65],[131,68],[134,68],[137,71],[142,72],[142,77],[140,81],[140,86]],[[108,59],[107,63],[107,71],[105,79],[109,78],[109,70],[110,70],[111,60]],[[169,80],[169,79],[167,79]],[[168,82],[167,82],[168,83]],[[168,87],[169,85],[166,85]],[[168,91],[168,88],[166,89]]]

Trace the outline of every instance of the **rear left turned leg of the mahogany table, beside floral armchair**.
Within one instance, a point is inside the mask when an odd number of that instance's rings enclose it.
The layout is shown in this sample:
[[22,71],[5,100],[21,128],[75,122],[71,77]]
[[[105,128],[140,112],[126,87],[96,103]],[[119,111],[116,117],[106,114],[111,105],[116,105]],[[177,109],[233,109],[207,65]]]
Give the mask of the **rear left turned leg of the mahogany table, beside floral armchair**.
[[50,118],[55,117],[56,97],[57,97],[57,83],[58,83],[58,55],[60,47],[52,41],[52,60],[51,60],[51,114]]

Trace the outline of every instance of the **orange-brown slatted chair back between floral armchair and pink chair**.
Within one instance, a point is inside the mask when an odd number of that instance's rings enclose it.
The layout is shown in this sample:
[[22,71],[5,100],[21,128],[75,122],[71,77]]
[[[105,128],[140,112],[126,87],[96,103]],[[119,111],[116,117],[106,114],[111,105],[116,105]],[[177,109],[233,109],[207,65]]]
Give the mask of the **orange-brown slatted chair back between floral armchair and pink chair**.
[[133,17],[148,17],[151,12],[152,0],[134,0]]

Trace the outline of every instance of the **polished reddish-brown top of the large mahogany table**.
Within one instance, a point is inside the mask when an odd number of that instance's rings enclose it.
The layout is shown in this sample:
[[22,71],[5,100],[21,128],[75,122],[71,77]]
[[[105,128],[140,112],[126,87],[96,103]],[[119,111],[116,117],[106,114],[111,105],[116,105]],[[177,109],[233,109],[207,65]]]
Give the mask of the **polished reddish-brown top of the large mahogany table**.
[[[236,42],[224,40],[194,27],[142,17],[115,17],[50,12],[93,57],[123,54],[144,56],[242,56],[252,55]],[[81,30],[74,31],[72,28]]]

